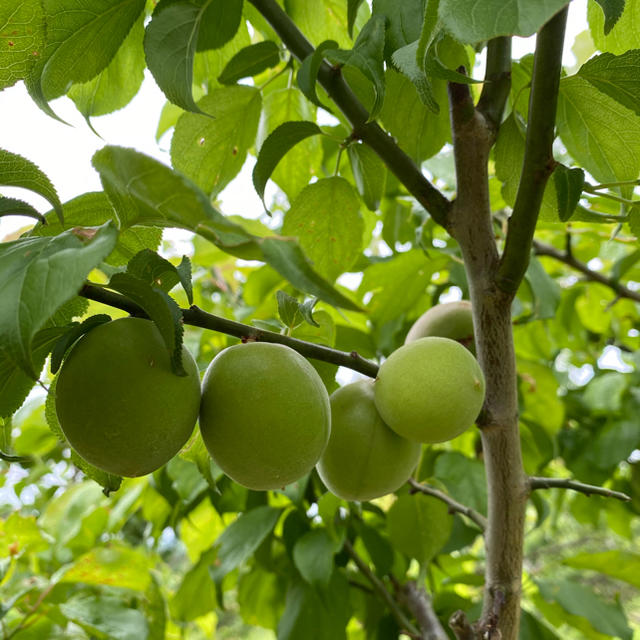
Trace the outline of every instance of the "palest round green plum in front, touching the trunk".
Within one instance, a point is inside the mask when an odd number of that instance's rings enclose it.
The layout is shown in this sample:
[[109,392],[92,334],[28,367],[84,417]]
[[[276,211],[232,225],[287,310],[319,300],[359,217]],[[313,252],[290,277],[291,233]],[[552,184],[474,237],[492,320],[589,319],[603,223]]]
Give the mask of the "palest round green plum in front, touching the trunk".
[[444,442],[471,426],[484,401],[480,365],[448,338],[420,338],[394,351],[375,382],[382,419],[399,435]]

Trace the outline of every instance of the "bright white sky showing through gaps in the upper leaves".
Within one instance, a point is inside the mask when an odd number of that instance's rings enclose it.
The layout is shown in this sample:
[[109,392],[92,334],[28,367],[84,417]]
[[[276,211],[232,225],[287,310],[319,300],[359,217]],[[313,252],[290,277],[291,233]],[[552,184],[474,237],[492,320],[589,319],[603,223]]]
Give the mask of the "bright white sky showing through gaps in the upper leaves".
[[[566,64],[573,63],[569,49],[575,35],[586,28],[585,15],[586,0],[574,0],[566,38]],[[534,41],[533,37],[514,38],[514,54],[520,57],[532,51]],[[49,176],[63,202],[86,191],[101,189],[98,174],[91,166],[91,156],[105,144],[133,147],[170,164],[168,136],[162,139],[162,147],[155,141],[165,99],[149,72],[145,73],[142,89],[124,109],[92,119],[102,139],[88,128],[68,98],[55,100],[51,106],[72,126],[49,118],[40,111],[22,83],[0,91],[0,114],[4,123],[0,132],[0,147],[35,162]],[[478,76],[478,72],[475,75]],[[262,213],[262,204],[251,184],[253,162],[250,159],[239,178],[222,193],[220,199],[224,213],[246,217],[257,217]],[[40,196],[22,189],[0,187],[0,193],[26,200],[42,212],[51,208]],[[0,218],[0,240],[7,233],[32,223],[31,218]]]

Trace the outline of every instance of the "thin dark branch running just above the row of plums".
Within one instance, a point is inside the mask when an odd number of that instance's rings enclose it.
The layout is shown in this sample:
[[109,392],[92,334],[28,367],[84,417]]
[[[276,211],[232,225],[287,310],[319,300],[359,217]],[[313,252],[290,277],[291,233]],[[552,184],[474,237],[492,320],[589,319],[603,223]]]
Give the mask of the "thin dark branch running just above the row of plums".
[[[134,316],[147,317],[144,309],[135,304],[135,302],[132,302],[119,293],[109,291],[95,284],[85,284],[80,290],[79,295],[89,300],[95,300],[96,302],[102,302],[111,307],[122,309]],[[181,311],[184,323],[194,327],[219,331],[220,333],[226,333],[227,335],[235,336],[242,340],[284,344],[305,358],[313,358],[314,360],[322,360],[323,362],[330,362],[341,367],[347,367],[371,378],[375,378],[378,374],[378,365],[375,362],[363,358],[356,351],[352,351],[351,353],[338,351],[337,349],[331,349],[330,347],[314,344],[313,342],[283,336],[274,331],[258,329],[257,327],[207,313],[195,305],[189,309],[181,309]]]

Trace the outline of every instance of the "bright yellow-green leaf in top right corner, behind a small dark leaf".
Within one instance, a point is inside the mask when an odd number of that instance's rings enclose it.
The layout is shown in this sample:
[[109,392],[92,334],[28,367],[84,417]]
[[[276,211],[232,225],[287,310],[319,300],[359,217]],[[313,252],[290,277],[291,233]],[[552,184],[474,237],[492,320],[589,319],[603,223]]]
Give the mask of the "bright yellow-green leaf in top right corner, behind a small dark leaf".
[[[640,6],[637,2],[623,2],[623,0],[602,0],[608,10],[602,12],[603,4],[596,0],[587,6],[589,32],[593,43],[600,51],[608,51],[615,55],[629,49],[640,47]],[[600,4],[600,7],[598,4]],[[620,6],[622,4],[622,6]],[[621,13],[621,15],[620,15]],[[614,19],[618,16],[617,19]],[[607,30],[607,25],[610,29]]]

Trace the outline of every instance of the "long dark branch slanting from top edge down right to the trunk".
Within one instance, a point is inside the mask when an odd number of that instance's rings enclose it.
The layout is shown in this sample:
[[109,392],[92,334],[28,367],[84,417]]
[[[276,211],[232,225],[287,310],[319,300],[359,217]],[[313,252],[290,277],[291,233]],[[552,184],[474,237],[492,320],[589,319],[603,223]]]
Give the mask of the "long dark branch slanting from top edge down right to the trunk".
[[[275,0],[250,0],[280,36],[284,45],[298,60],[304,60],[314,49],[291,18]],[[340,70],[323,62],[318,81],[353,127],[354,136],[369,145],[409,193],[446,226],[451,203],[422,174],[413,160],[375,122],[368,122],[369,113],[342,77]]]

